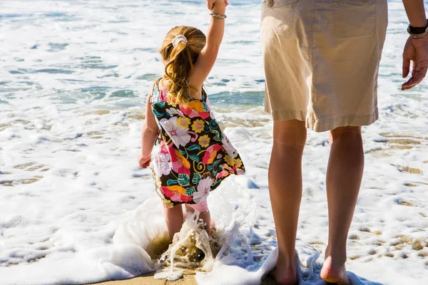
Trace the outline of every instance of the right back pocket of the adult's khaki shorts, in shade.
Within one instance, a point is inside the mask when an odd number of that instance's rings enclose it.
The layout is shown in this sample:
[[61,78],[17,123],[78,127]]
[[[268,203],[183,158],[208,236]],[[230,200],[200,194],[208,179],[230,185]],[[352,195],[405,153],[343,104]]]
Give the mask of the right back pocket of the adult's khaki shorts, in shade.
[[370,36],[376,28],[377,0],[332,0],[335,33],[340,38]]

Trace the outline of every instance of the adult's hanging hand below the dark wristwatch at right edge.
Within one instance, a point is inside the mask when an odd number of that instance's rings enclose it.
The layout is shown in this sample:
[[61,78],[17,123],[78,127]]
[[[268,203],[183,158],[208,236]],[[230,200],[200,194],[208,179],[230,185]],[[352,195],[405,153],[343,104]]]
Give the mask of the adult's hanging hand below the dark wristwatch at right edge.
[[428,70],[428,35],[422,38],[407,39],[403,51],[403,78],[410,72],[412,61],[412,77],[402,85],[402,90],[409,90],[417,86],[427,75]]

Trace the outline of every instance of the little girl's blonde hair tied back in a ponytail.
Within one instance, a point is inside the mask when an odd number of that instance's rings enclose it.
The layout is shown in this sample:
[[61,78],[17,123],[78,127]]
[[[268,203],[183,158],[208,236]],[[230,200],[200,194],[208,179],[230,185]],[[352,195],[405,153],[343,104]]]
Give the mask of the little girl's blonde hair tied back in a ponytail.
[[[175,36],[183,35],[187,39],[173,46]],[[168,102],[188,103],[190,88],[187,78],[193,73],[193,64],[198,59],[200,51],[205,46],[206,37],[198,28],[191,26],[176,26],[172,28],[163,40],[163,46],[159,50],[165,65],[165,75],[168,81]]]

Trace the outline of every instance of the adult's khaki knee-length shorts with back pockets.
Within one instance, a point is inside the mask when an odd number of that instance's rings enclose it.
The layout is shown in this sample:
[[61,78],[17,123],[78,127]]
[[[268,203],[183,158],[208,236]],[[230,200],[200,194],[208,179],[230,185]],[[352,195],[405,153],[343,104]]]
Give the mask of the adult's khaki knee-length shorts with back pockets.
[[378,119],[387,0],[263,1],[265,110],[317,132]]

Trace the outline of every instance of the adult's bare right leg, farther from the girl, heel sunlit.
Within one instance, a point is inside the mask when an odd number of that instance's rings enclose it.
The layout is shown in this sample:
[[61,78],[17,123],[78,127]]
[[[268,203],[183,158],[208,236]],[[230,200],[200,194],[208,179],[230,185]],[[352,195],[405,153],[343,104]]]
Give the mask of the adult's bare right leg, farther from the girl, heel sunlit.
[[335,284],[350,284],[346,276],[347,234],[360,191],[364,170],[361,127],[330,131],[327,167],[329,238],[321,278]]

